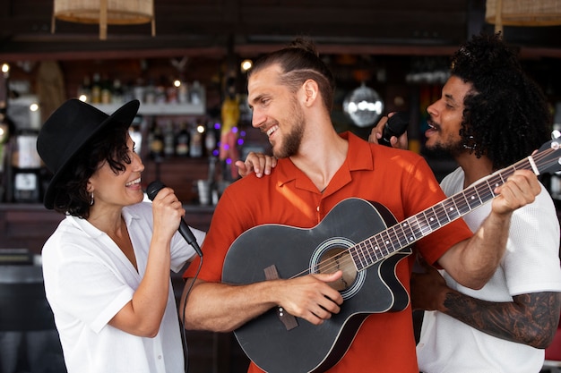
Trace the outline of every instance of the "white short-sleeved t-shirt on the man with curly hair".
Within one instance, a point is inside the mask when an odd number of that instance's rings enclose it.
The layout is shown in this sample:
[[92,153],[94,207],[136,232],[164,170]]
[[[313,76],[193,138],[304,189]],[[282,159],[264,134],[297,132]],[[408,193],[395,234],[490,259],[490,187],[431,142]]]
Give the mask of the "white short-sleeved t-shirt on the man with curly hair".
[[[441,186],[447,196],[463,190],[462,168],[447,175]],[[463,216],[476,231],[491,202]],[[495,275],[479,291],[463,287],[443,273],[449,287],[485,301],[513,301],[529,292],[561,292],[559,223],[548,191],[514,211],[505,256]],[[444,313],[425,312],[419,344],[419,369],[424,373],[538,373],[544,350],[508,342],[479,332]]]

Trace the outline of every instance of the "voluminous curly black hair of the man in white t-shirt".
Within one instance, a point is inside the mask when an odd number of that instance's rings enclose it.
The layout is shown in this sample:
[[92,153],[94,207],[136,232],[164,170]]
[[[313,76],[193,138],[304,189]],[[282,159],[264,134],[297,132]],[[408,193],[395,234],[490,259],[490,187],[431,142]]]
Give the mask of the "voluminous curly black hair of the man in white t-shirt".
[[451,73],[474,89],[464,99],[463,143],[477,157],[488,157],[494,169],[513,165],[548,140],[546,97],[500,33],[463,44],[452,57]]

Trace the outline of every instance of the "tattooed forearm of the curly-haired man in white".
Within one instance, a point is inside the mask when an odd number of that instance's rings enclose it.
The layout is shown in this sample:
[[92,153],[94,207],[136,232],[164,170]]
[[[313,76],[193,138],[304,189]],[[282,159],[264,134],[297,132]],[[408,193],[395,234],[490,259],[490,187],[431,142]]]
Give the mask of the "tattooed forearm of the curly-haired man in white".
[[544,349],[552,342],[561,309],[561,292],[514,296],[512,302],[481,301],[449,291],[444,313],[488,335]]

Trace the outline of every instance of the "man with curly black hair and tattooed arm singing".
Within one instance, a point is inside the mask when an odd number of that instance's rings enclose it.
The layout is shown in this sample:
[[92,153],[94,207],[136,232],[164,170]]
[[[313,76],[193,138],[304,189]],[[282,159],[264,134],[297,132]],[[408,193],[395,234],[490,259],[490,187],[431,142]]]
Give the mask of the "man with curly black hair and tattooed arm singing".
[[[500,34],[460,47],[442,96],[427,112],[427,149],[444,150],[460,165],[441,183],[447,196],[529,156],[548,140],[551,123],[542,91]],[[404,138],[393,139],[394,146]],[[483,206],[464,220],[475,232],[488,212]],[[417,346],[419,369],[539,372],[561,308],[558,250],[556,210],[542,186],[533,203],[514,211],[505,254],[483,288],[469,289],[429,266],[414,275],[413,307],[429,310]]]

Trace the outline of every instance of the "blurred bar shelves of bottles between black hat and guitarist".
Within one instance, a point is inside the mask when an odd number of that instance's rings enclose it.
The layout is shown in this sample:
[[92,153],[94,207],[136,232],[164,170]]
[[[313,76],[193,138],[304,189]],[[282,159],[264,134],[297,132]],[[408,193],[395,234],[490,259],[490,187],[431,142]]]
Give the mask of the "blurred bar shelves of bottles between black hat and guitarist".
[[[143,81],[121,84],[93,74],[85,77],[77,97],[99,110],[113,114],[132,99],[140,101],[131,136],[144,160],[169,160],[174,157],[211,156],[202,151],[205,132],[207,141],[214,131],[199,123],[206,114],[205,89],[198,81]],[[203,121],[204,122],[204,121]],[[215,148],[215,145],[213,146]]]

